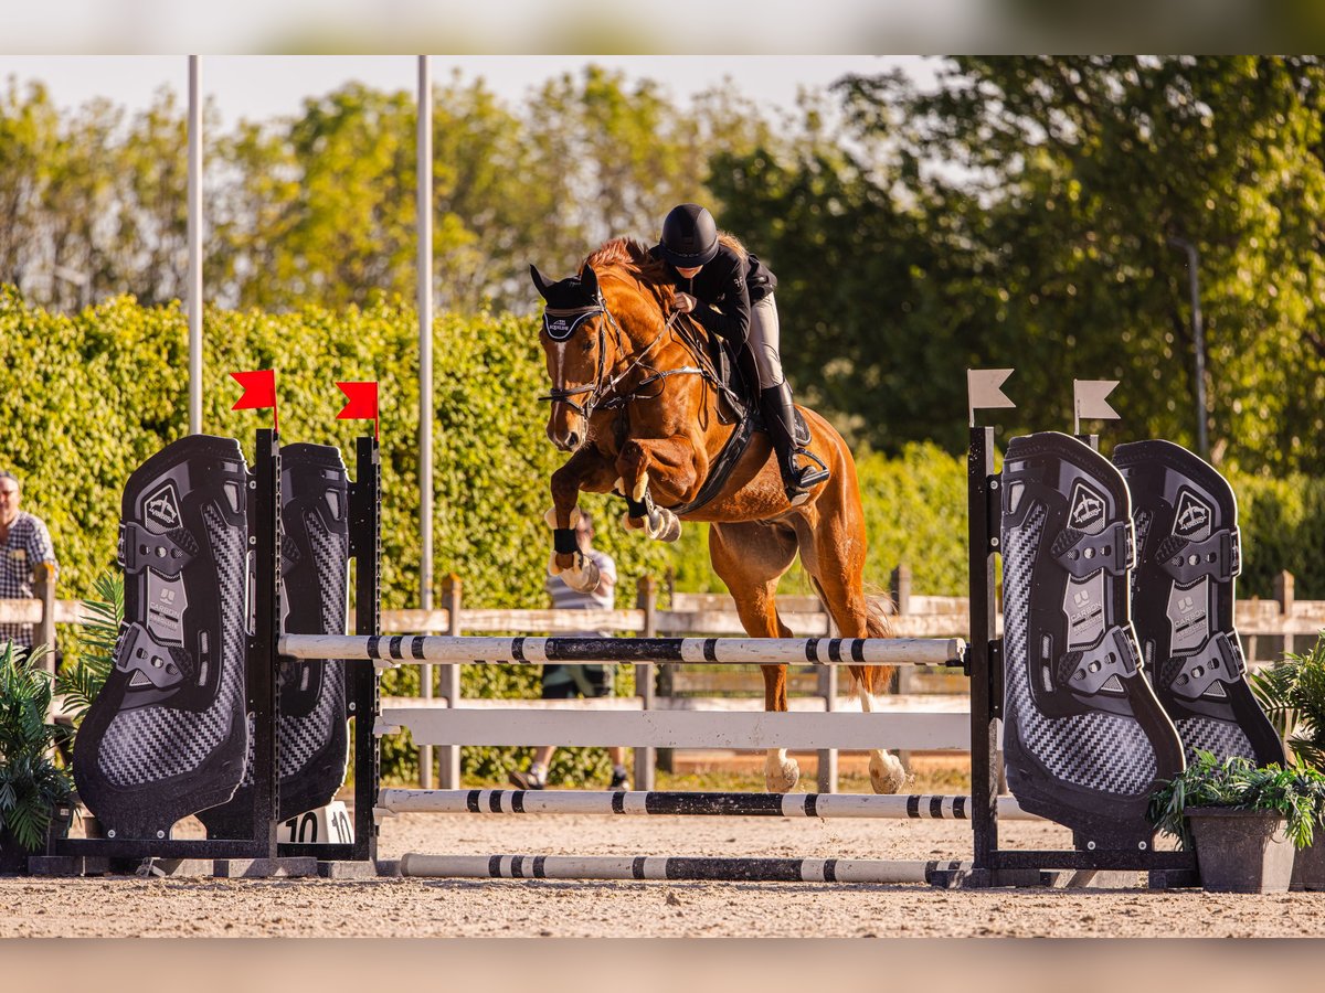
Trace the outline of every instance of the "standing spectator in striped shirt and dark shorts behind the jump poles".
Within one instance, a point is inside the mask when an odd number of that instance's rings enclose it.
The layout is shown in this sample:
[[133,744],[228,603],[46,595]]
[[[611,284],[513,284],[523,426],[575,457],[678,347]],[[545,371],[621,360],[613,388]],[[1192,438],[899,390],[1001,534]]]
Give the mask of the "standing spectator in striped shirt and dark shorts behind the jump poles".
[[[607,552],[594,548],[594,518],[582,512],[579,523],[575,524],[575,540],[586,559],[592,559],[598,565],[598,588],[588,593],[578,593],[566,585],[560,576],[547,575],[547,593],[553,598],[555,610],[611,610],[616,587],[616,563]],[[579,637],[599,637],[607,632],[572,632]],[[568,700],[575,696],[611,696],[613,665],[592,666],[543,666],[543,699]],[[555,745],[539,745],[534,751],[534,761],[527,771],[514,771],[509,779],[511,784],[521,789],[543,789],[547,785],[547,768],[553,760]],[[607,749],[612,760],[612,784],[610,789],[629,789],[631,777],[625,772],[625,748],[615,745]]]

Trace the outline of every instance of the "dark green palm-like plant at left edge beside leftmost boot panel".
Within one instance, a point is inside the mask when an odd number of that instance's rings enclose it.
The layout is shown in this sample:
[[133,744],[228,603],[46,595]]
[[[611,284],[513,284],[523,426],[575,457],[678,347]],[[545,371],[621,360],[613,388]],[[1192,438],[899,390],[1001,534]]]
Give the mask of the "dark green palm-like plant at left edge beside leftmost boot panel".
[[73,780],[53,752],[69,728],[50,723],[52,678],[40,662],[46,649],[17,657],[0,650],[0,873],[25,873],[44,849],[52,820],[68,806]]

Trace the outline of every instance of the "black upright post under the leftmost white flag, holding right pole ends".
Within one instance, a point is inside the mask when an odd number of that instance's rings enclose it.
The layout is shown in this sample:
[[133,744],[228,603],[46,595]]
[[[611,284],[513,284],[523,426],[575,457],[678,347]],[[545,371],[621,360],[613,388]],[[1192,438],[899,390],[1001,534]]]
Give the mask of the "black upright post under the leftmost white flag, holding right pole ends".
[[992,757],[998,749],[998,718],[1003,703],[995,694],[1002,645],[995,639],[994,555],[999,551],[999,535],[994,527],[998,515],[992,507],[998,506],[1002,493],[994,475],[992,428],[971,428],[966,475],[971,614],[967,647],[971,677],[971,829],[975,855],[973,882],[988,886],[992,883],[998,853],[999,777]]

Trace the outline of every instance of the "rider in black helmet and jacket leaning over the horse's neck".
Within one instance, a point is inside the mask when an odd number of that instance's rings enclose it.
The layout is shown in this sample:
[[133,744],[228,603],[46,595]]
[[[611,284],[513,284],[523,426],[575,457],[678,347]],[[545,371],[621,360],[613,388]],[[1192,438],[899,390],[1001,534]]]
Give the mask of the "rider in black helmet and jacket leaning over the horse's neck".
[[828,470],[796,461],[803,449],[795,442],[795,406],[778,356],[776,277],[739,241],[729,234],[719,238],[713,214],[698,204],[672,209],[652,254],[673,275],[676,310],[692,314],[738,350],[750,348],[759,375],[759,410],[778,453],[782,486],[792,506],[804,503],[810,487],[827,479]]

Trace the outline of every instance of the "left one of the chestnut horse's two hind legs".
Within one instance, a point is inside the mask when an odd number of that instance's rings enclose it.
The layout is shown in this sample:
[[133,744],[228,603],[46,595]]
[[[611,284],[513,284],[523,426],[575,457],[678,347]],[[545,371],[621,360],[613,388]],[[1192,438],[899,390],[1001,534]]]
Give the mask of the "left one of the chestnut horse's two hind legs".
[[[791,629],[778,617],[774,593],[778,579],[796,557],[795,535],[772,524],[713,524],[709,528],[709,557],[731,598],[737,602],[741,626],[751,638],[790,638]],[[787,667],[761,666],[763,708],[787,710]],[[796,785],[800,769],[786,748],[770,748],[763,764],[765,788],[786,793]]]

